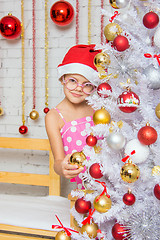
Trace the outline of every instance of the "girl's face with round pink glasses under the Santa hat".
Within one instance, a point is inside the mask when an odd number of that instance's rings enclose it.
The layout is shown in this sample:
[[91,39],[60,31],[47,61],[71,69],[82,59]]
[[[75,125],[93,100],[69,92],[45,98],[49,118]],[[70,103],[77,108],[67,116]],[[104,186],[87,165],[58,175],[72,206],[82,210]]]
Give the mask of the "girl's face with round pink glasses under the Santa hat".
[[65,96],[73,103],[81,103],[94,90],[95,86],[79,74],[66,74],[61,81]]

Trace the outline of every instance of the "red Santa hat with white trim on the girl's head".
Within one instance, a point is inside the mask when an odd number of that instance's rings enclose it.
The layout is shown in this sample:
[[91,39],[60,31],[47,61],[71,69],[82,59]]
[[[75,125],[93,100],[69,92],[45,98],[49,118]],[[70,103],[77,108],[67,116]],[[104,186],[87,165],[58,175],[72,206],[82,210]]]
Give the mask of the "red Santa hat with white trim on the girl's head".
[[94,57],[101,50],[95,50],[95,44],[76,45],[69,49],[61,64],[58,65],[58,78],[64,74],[80,74],[92,82],[97,68]]

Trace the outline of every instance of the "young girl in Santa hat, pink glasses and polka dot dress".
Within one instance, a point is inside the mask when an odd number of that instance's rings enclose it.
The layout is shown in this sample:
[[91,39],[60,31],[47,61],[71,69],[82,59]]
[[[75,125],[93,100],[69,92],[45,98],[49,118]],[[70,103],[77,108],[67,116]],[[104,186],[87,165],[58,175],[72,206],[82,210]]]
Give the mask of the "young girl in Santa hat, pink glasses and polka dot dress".
[[[78,188],[83,189],[78,174],[84,171],[83,167],[69,164],[69,157],[73,152],[80,152],[86,145],[86,126],[93,126],[93,112],[86,102],[86,97],[94,90],[90,82],[98,77],[94,66],[94,57],[100,51],[94,50],[95,45],[76,45],[65,55],[62,64],[58,65],[58,77],[63,85],[65,97],[45,118],[46,131],[54,155],[54,169],[65,179],[76,182]],[[61,186],[64,186],[61,179]],[[72,189],[75,186],[71,186]],[[71,188],[64,187],[65,193]]]

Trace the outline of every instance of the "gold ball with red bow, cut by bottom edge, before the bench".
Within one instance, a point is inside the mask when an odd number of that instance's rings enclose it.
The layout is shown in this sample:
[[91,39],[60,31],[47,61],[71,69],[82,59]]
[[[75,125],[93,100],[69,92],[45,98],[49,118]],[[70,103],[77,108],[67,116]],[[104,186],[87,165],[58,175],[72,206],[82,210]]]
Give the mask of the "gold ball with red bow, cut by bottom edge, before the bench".
[[71,228],[66,228],[65,226],[63,226],[62,222],[60,221],[60,219],[57,217],[57,215],[55,215],[58,222],[60,223],[60,225],[52,225],[53,229],[63,229],[62,231],[58,232],[55,236],[55,240],[71,240],[71,231],[78,233],[77,231],[71,229]]

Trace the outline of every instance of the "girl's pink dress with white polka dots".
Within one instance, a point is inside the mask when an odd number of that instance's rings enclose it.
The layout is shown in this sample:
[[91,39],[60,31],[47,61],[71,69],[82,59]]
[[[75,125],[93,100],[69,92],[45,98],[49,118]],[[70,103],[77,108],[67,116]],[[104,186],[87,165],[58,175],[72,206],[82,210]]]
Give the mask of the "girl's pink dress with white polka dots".
[[[66,122],[60,111],[57,108],[55,109],[65,123],[60,131],[65,154],[67,155],[82,151],[86,145],[87,133],[85,129],[94,126],[93,117],[88,116],[73,120],[71,122]],[[72,178],[70,181],[76,182],[78,189],[84,189],[82,180],[79,178],[79,176]]]

